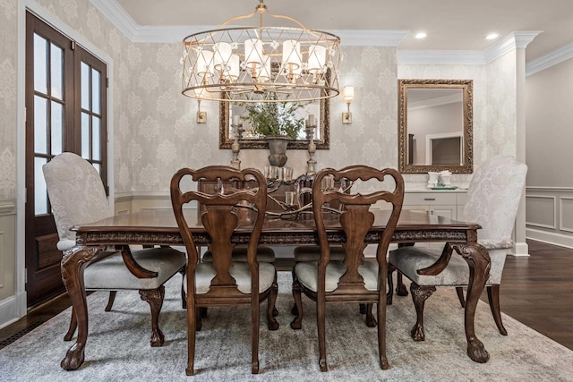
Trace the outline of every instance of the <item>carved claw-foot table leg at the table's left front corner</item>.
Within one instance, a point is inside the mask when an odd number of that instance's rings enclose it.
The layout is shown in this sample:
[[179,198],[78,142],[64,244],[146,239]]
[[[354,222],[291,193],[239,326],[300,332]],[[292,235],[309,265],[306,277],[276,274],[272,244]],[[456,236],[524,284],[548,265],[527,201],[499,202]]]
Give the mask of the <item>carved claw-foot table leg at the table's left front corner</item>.
[[65,370],[78,369],[83,363],[83,349],[88,340],[88,305],[83,284],[83,269],[86,262],[93,259],[98,250],[101,250],[101,248],[76,247],[64,253],[64,258],[62,259],[62,281],[70,295],[73,312],[78,321],[78,338],[60,362],[60,366]]

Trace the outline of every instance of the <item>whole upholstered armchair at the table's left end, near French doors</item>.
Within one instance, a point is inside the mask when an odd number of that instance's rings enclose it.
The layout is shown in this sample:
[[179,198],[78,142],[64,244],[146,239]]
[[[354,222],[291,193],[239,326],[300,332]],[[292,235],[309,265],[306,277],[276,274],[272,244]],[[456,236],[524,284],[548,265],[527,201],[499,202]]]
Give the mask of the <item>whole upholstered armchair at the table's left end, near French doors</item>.
[[[76,154],[64,152],[43,166],[47,193],[56,219],[59,236],[58,250],[70,250],[75,246],[73,225],[90,223],[111,216],[106,191],[98,171]],[[128,268],[124,259],[133,267]],[[110,248],[92,259],[83,270],[85,289],[110,291],[106,311],[111,310],[115,292],[139,290],[141,300],[151,308],[151,346],[161,346],[164,335],[158,324],[167,282],[177,271],[184,269],[185,254],[171,248],[150,248],[133,251],[128,246]],[[142,267],[155,276],[138,277],[132,269]],[[77,327],[72,311],[70,328],[64,336],[70,341]]]

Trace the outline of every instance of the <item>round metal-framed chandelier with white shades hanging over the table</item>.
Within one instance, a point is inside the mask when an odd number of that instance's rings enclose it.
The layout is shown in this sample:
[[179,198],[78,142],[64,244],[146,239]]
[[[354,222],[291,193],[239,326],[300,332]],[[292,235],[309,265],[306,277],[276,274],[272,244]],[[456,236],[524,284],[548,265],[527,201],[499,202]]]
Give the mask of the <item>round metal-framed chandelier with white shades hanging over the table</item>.
[[[295,27],[265,27],[263,15]],[[259,15],[258,27],[228,24]],[[269,13],[259,0],[253,13],[183,40],[183,91],[197,99],[293,102],[338,96],[340,38],[308,30],[295,19]]]

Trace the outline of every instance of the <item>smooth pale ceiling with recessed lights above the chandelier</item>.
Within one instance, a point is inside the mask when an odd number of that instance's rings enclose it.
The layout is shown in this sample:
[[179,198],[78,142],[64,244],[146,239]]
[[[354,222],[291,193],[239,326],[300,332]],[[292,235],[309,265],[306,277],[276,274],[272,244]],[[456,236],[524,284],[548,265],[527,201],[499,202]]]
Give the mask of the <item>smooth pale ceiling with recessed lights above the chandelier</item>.
[[[258,0],[115,0],[140,26],[218,26],[251,13]],[[573,43],[572,0],[266,0],[270,13],[315,30],[408,30],[399,50],[483,51],[513,31],[543,31],[526,61]],[[257,25],[257,19],[249,20]],[[268,25],[265,23],[265,25]],[[416,39],[415,33],[428,36]],[[498,40],[500,39],[498,38]],[[344,41],[342,41],[344,44]]]

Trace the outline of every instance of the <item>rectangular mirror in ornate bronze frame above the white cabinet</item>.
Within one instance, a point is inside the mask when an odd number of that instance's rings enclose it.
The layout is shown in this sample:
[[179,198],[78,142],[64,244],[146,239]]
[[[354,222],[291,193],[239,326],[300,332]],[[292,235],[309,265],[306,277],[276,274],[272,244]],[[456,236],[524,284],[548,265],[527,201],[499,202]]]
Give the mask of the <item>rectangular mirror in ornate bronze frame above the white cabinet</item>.
[[472,80],[398,80],[398,169],[474,171]]

